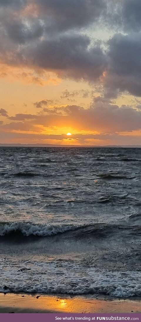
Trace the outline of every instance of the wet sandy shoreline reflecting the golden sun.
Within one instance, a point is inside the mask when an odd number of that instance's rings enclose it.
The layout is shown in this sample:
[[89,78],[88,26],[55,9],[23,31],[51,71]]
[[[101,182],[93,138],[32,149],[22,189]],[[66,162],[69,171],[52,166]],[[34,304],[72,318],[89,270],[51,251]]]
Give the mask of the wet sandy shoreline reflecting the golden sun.
[[141,313],[141,298],[0,293],[0,313]]

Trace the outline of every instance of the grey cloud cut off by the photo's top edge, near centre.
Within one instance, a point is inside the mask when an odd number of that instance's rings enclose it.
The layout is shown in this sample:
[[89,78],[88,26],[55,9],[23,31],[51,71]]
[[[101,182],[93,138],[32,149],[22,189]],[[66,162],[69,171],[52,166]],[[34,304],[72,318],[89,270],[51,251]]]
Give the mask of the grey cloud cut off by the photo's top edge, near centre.
[[35,0],[46,17],[47,30],[67,30],[96,22],[106,10],[106,0]]

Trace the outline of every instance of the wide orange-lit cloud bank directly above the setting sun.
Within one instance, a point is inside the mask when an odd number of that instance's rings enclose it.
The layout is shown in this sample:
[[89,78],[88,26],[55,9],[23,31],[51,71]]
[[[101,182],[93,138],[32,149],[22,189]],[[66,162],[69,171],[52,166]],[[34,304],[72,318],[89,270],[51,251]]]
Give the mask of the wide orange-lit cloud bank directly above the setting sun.
[[[101,101],[93,102],[88,109],[67,105],[46,109],[46,114],[16,114],[12,122],[2,125],[3,130],[47,131],[47,128],[74,128],[77,132],[120,133],[141,128],[141,110]],[[22,121],[22,122],[21,122]],[[36,128],[36,129],[35,129]]]

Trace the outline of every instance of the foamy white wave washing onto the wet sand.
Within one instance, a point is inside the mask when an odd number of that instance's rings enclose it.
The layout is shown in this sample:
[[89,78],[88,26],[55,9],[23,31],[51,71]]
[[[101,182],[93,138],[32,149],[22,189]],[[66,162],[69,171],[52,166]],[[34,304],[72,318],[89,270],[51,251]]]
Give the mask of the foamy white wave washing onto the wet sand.
[[[96,277],[98,279],[96,279]],[[0,292],[12,292],[12,293],[42,293],[42,294],[101,294],[109,295],[112,297],[128,298],[128,297],[141,297],[141,283],[140,273],[134,272],[129,274],[117,273],[117,276],[111,272],[107,274],[101,274],[96,272],[95,278],[92,280],[87,279],[70,279],[68,282],[62,280],[47,281],[44,280],[40,284],[35,283],[33,285],[22,285],[24,283],[18,283],[17,286],[4,285],[0,287]],[[100,280],[100,279],[101,280]]]

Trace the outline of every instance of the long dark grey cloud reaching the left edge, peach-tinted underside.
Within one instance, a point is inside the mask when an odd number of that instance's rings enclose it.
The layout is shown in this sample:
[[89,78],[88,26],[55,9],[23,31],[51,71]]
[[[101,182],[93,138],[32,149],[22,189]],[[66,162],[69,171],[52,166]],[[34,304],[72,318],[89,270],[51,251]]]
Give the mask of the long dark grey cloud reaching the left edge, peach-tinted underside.
[[80,34],[43,38],[26,46],[5,41],[2,37],[0,59],[3,63],[53,71],[60,78],[95,82],[108,64],[100,45],[91,44],[88,36]]

